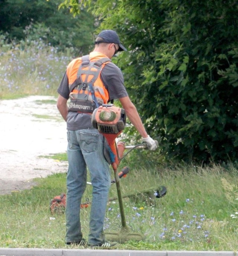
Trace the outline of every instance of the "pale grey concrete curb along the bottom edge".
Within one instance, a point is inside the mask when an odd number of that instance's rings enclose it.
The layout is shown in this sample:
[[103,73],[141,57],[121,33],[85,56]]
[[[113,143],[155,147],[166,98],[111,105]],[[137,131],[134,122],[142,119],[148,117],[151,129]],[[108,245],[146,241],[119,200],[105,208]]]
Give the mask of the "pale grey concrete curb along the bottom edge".
[[236,252],[0,248],[0,256],[237,256]]

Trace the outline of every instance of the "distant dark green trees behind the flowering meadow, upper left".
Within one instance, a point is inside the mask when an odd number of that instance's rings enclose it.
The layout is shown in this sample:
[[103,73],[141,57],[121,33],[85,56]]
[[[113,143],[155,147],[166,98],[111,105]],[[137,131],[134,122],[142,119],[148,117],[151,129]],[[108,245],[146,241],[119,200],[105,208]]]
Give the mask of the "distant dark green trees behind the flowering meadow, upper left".
[[68,9],[58,10],[60,0],[0,0],[0,31],[9,40],[44,40],[60,49],[74,47],[87,53],[95,29],[93,15],[81,10],[73,17]]

